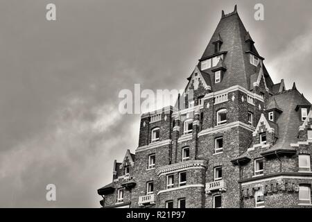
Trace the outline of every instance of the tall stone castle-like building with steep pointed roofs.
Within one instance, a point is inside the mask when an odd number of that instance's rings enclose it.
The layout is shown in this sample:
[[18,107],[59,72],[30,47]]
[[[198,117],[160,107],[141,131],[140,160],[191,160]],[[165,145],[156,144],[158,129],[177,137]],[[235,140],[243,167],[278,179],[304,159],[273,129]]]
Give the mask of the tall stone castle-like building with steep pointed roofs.
[[175,107],[141,115],[103,207],[311,207],[311,103],[273,83],[236,6]]

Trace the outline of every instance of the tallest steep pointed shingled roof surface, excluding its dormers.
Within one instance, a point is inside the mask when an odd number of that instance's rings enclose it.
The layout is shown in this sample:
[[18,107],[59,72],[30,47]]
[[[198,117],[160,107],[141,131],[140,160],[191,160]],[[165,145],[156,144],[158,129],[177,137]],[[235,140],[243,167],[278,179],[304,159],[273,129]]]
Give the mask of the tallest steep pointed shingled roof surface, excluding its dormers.
[[[246,36],[248,36],[248,32],[243,22],[241,22],[236,9],[229,15],[223,15],[200,59],[213,56],[213,42],[222,38],[223,44],[220,46],[220,52],[226,52],[224,63],[227,70],[223,74],[221,83],[214,84],[214,73],[210,74],[211,83],[213,83],[212,91],[216,92],[234,85],[241,85],[245,89],[250,89],[250,76],[255,74],[257,67],[250,64],[250,53],[246,53],[250,51],[250,42],[245,42]],[[248,38],[251,37],[249,36]],[[259,55],[254,46],[252,46],[252,53]],[[198,67],[200,67],[200,62]],[[211,69],[214,68],[211,67]],[[209,73],[207,70],[205,72]],[[273,83],[264,65],[263,74],[266,77],[268,87],[271,88]]]

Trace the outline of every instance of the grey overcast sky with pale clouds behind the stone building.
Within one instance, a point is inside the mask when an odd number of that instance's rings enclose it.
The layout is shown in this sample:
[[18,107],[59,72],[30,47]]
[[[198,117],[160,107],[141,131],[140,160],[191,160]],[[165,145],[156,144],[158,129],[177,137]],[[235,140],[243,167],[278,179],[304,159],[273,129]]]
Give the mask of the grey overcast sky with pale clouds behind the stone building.
[[183,89],[235,3],[272,80],[312,101],[311,0],[0,0],[0,207],[100,207],[96,189],[139,139],[119,91]]

